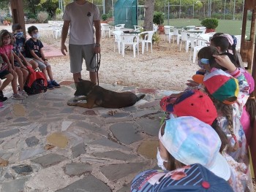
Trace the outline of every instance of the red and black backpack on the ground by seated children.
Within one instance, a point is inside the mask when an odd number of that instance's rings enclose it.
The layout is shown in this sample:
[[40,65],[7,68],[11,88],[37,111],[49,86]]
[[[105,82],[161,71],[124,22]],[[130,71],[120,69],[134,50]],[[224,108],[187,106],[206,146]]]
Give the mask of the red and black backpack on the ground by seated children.
[[39,72],[39,70],[32,69],[30,66],[26,66],[29,70],[29,76],[26,79],[24,90],[28,94],[37,94],[47,91],[47,80],[45,74]]

